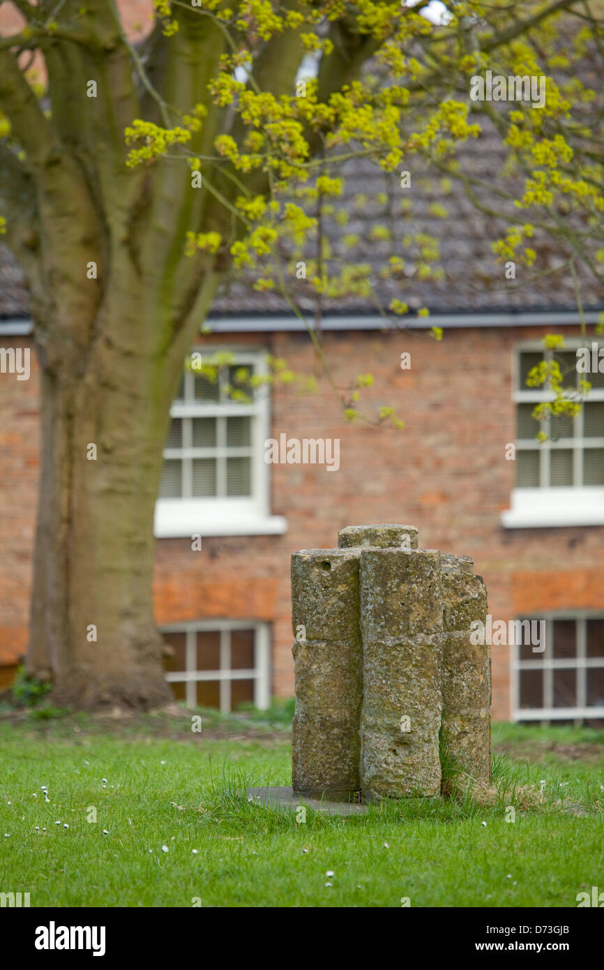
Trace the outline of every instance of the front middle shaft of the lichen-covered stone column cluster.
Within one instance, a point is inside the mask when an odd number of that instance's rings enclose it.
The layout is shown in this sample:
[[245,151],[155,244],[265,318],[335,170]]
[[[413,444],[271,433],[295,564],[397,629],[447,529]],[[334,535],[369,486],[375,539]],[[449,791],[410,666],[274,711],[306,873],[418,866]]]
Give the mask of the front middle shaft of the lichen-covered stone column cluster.
[[440,792],[440,553],[361,550],[364,697],[361,787],[368,799]]

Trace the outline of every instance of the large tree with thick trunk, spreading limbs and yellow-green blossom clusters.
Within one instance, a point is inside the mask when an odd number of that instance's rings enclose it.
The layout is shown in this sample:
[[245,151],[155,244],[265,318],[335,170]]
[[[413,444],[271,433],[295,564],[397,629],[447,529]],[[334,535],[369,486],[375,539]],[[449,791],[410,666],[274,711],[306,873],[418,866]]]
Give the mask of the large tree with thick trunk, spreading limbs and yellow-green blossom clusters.
[[[573,0],[526,3],[522,19],[514,5],[456,2],[437,27],[428,0],[154,0],[135,43],[113,0],[13,3],[23,26],[0,39],[0,211],[42,371],[28,669],[52,677],[59,702],[148,707],[169,696],[151,598],[162,447],[221,280],[249,266],[260,288],[289,294],[288,254],[314,234],[319,301],[362,284],[362,268],[331,280],[324,264],[338,163],[365,155],[398,178],[415,153],[459,177],[454,148],[485,107],[470,76],[495,57],[540,70],[531,31],[571,8],[592,15]],[[556,169],[568,132],[555,97],[543,121],[561,140]],[[429,274],[431,243],[418,244]]]

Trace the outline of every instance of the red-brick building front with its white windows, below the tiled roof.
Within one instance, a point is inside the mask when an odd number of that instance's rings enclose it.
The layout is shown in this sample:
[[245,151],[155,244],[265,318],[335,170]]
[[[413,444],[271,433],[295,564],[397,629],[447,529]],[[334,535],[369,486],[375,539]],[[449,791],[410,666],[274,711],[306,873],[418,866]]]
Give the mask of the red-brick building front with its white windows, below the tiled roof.
[[[580,428],[542,449],[544,462],[526,404],[536,392],[521,390],[520,374],[554,324],[576,338],[572,313],[442,314],[438,322],[441,342],[385,331],[380,318],[324,323],[334,377],[345,383],[351,372],[372,372],[367,404],[396,406],[402,431],[343,423],[323,385],[302,397],[257,391],[263,400],[246,405],[221,402],[215,385],[200,390],[186,375],[156,511],[156,614],[174,647],[167,666],[176,696],[228,707],[292,695],[291,552],[333,546],[346,525],[393,521],[417,525],[424,547],[473,557],[493,622],[547,620],[543,653],[493,645],[495,719],[604,717],[604,382],[575,419]],[[5,320],[3,347],[29,345],[26,329]],[[223,318],[200,347],[228,348],[238,365],[255,369],[267,353],[295,361],[299,372],[314,367],[307,335],[291,318]],[[410,370],[400,369],[403,351]],[[37,385],[35,366],[27,381],[0,379],[3,683],[27,642]],[[339,469],[267,465],[264,442],[282,434],[339,439]],[[510,442],[516,461],[506,459]],[[197,533],[201,550],[192,548]],[[223,679],[212,679],[221,666]],[[184,671],[195,678],[188,686]]]

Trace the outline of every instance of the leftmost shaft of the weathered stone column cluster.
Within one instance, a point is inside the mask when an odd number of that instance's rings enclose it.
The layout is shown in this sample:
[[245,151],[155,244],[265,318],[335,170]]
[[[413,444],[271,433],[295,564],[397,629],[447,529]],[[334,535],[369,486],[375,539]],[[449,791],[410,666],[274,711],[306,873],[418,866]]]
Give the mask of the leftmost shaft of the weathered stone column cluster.
[[296,713],[295,792],[350,798],[359,780],[363,650],[359,551],[309,549],[292,556]]

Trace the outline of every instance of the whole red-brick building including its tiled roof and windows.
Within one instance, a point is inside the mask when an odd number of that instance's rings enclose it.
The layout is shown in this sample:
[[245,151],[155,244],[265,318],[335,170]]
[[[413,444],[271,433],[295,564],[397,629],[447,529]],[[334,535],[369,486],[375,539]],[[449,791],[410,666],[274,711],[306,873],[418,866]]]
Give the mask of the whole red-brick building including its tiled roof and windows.
[[[468,146],[467,158],[475,174],[493,178],[489,134]],[[154,594],[171,648],[167,676],[176,697],[223,709],[292,695],[292,551],[334,546],[348,525],[409,523],[421,546],[473,557],[489,590],[493,630],[506,625],[505,637],[493,636],[493,718],[596,723],[604,719],[604,373],[589,375],[582,413],[559,419],[539,446],[530,411],[542,398],[525,375],[544,353],[543,336],[556,332],[566,337],[568,381],[576,379],[575,347],[586,339],[572,280],[567,271],[543,276],[560,255],[539,239],[535,279],[506,280],[489,245],[501,227],[437,179],[414,179],[394,214],[393,186],[384,191],[364,164],[354,163],[347,181],[346,232],[361,239],[355,259],[374,268],[383,306],[393,296],[407,302],[409,324],[393,325],[367,297],[326,305],[322,321],[335,382],[370,372],[365,408],[394,407],[403,430],[346,423],[325,379],[315,394],[277,384],[244,404],[224,393],[228,367],[217,384],[193,372],[183,377],[155,520]],[[443,192],[445,219],[435,208]],[[388,240],[373,232],[382,216],[392,227]],[[337,227],[331,231],[334,256],[345,261]],[[441,279],[422,281],[413,256],[407,259],[410,232],[439,238]],[[405,255],[405,270],[382,281],[392,251]],[[231,367],[256,373],[267,371],[269,357],[314,373],[300,320],[249,284],[242,276],[229,281],[210,319],[200,320],[197,349],[227,350]],[[582,298],[590,347],[602,295],[583,279]],[[314,312],[302,284],[298,299]],[[423,306],[429,320],[414,315]],[[28,312],[19,271],[0,250],[0,347],[33,348]],[[431,325],[443,329],[442,341],[429,337]],[[402,353],[410,354],[409,368],[401,367]],[[39,453],[33,349],[29,379],[0,373],[0,413],[2,686],[27,645]],[[282,435],[338,440],[338,468],[267,464],[265,442]],[[509,621],[523,619],[545,622],[545,650],[508,642]]]

